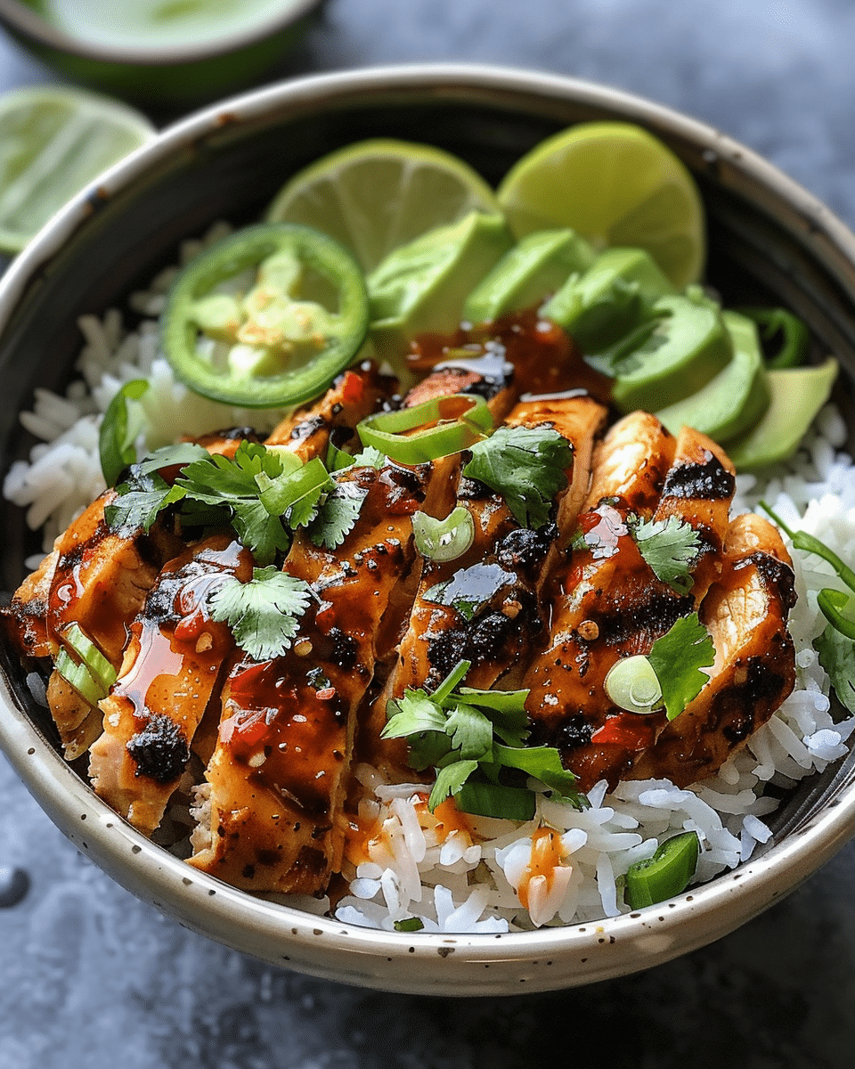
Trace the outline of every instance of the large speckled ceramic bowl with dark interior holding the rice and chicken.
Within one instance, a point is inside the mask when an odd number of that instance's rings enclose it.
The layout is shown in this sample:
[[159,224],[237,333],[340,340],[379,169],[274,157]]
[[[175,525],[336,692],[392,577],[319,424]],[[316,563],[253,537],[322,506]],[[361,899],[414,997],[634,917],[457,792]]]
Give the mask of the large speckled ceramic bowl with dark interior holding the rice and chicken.
[[[694,172],[710,219],[710,278],[725,297],[777,298],[855,372],[855,237],[813,197],[720,133],[600,86],[471,66],[407,66],[292,81],[168,129],[58,215],[0,284],[2,467],[27,446],[17,412],[63,383],[77,315],[121,301],[214,219],[258,216],[283,180],[364,137],[424,140],[496,182],[542,138],[623,119]],[[35,356],[33,356],[35,354]],[[851,392],[851,385],[850,385]],[[854,425],[850,422],[850,425]],[[3,585],[32,552],[3,506]],[[60,756],[19,663],[3,651],[0,745],[63,832],[125,887],[205,935],[278,965],[380,989],[497,994],[647,969],[725,935],[814,872],[855,833],[855,760],[805,781],[747,864],[677,899],[566,928],[502,935],[386,933],[276,905],[189,869],[115,816]]]

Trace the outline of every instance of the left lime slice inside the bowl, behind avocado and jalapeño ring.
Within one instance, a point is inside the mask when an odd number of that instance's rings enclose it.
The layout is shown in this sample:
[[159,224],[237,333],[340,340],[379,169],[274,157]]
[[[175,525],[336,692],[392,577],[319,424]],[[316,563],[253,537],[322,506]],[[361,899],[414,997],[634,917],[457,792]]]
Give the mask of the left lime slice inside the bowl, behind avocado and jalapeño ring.
[[441,149],[371,140],[340,149],[299,171],[267,211],[349,249],[370,272],[393,249],[472,211],[499,211],[486,182]]

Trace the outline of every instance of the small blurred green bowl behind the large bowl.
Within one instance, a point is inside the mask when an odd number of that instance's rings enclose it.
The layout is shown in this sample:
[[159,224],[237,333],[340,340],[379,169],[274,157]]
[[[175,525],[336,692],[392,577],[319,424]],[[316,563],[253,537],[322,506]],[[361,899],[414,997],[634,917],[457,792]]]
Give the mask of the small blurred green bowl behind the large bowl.
[[72,36],[42,17],[37,4],[20,0],[0,0],[0,26],[72,81],[170,111],[256,82],[299,40],[321,2],[284,0],[276,14],[262,14],[221,36],[169,47],[145,47],[130,38],[113,45]]

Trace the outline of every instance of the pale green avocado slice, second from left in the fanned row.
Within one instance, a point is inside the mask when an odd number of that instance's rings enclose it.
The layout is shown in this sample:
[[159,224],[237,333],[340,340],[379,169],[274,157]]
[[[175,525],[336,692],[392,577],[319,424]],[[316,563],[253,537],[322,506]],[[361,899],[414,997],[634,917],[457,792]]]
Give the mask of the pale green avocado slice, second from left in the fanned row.
[[566,281],[587,270],[595,253],[575,230],[527,234],[472,290],[463,306],[467,323],[491,323],[500,315],[533,308]]

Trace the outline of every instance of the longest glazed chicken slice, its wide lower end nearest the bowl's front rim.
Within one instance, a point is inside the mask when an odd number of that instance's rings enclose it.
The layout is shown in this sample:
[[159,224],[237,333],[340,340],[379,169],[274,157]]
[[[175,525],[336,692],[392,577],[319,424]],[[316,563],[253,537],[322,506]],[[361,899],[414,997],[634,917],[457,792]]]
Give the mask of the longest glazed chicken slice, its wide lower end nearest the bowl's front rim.
[[295,537],[284,570],[316,600],[284,656],[231,672],[191,865],[238,887],[306,894],[339,871],[356,713],[385,653],[377,636],[400,629],[387,614],[414,562],[411,515],[434,508],[430,475],[349,468],[340,485],[364,497],[343,542]]

